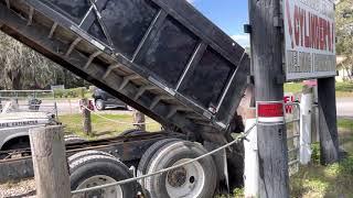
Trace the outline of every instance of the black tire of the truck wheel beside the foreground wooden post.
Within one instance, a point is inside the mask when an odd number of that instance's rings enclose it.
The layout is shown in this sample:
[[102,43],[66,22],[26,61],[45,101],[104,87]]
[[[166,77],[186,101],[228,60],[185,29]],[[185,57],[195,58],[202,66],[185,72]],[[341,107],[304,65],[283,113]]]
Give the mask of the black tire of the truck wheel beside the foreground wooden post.
[[[108,176],[114,180],[124,180],[132,177],[129,168],[115,157],[104,155],[88,155],[74,161],[71,164],[71,189],[75,190],[86,179],[96,176]],[[128,183],[120,186],[122,198],[131,198],[137,195],[137,184]],[[99,194],[100,191],[92,191]],[[86,195],[89,197],[89,195]],[[101,195],[100,195],[101,196]]]

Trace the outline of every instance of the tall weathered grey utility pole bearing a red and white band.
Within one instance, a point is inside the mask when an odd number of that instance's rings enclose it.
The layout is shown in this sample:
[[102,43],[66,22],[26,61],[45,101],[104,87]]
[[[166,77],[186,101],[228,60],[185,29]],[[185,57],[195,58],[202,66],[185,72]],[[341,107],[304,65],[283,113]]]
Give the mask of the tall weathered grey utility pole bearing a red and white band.
[[[287,133],[284,120],[282,22],[280,0],[249,0],[252,58],[256,102],[277,118],[257,125],[259,157],[259,197],[289,197]],[[274,102],[274,103],[272,103]],[[272,105],[271,105],[272,103]],[[259,105],[258,112],[259,113]],[[270,109],[268,109],[268,107]],[[274,121],[277,120],[277,121]]]

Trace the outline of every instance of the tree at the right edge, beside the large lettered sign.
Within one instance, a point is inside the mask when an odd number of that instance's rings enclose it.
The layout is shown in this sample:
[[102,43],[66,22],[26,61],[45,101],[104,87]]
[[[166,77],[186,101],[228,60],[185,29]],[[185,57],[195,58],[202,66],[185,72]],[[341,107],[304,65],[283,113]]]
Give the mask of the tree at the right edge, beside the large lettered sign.
[[[336,53],[345,56],[340,65],[349,74],[353,74],[353,2],[341,0],[336,4]],[[353,77],[351,76],[351,80]]]

